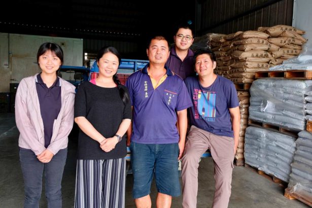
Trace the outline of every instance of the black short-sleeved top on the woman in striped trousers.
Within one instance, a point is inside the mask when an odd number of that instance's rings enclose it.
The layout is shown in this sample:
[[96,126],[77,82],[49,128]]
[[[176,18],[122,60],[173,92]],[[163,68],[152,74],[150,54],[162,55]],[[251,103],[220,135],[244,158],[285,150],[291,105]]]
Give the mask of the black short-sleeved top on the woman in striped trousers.
[[[122,88],[128,93],[125,86]],[[122,120],[132,118],[131,102],[129,99],[124,105],[117,87],[105,88],[83,82],[75,97],[75,118],[80,116],[85,117],[104,137],[113,137]],[[78,159],[117,159],[126,154],[125,136],[115,149],[104,152],[97,141],[82,130],[79,132]]]

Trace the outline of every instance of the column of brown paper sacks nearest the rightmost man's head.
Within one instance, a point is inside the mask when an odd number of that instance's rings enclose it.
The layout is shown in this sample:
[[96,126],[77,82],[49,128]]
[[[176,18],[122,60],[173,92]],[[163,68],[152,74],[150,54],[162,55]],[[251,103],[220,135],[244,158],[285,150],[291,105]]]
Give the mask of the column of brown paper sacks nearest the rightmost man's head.
[[230,80],[234,83],[252,83],[255,72],[266,71],[272,56],[268,51],[279,50],[280,47],[268,43],[267,33],[248,30],[236,32],[228,52],[235,60],[230,65]]

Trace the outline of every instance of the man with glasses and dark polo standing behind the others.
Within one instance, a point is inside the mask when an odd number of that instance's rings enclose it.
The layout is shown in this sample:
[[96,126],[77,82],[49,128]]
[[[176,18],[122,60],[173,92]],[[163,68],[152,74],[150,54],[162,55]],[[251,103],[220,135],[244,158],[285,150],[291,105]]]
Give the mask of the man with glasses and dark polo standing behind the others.
[[187,77],[195,76],[194,53],[190,49],[194,39],[193,32],[188,26],[178,27],[174,36],[175,46],[170,49],[170,55],[166,62],[166,67],[183,80]]

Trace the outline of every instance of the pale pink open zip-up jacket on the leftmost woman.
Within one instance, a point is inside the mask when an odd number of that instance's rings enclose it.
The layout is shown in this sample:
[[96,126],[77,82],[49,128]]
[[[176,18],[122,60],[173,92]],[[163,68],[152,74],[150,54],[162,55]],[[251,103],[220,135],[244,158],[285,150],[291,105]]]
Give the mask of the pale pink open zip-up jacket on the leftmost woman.
[[[41,154],[45,148],[44,127],[36,89],[37,75],[21,80],[15,97],[15,120],[20,132],[18,146]],[[68,134],[74,124],[75,86],[59,78],[61,109],[54,120],[51,143],[47,147],[54,155],[67,147]]]

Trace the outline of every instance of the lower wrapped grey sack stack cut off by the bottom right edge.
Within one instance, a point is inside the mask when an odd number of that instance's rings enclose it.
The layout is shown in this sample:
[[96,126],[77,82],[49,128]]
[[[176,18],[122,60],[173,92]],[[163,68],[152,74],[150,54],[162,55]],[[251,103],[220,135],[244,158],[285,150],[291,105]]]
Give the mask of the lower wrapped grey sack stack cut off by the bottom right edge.
[[312,201],[312,134],[301,131],[298,136],[288,189]]

